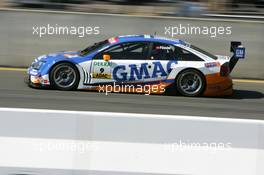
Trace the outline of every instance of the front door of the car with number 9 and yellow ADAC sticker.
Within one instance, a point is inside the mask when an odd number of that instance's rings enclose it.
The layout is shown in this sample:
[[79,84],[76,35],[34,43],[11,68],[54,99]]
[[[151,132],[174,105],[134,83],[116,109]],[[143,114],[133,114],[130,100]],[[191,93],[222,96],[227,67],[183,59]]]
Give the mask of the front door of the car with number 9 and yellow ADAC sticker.
[[[148,46],[147,42],[126,42],[102,51],[92,61],[90,84],[144,81]],[[104,61],[103,55],[110,60]]]

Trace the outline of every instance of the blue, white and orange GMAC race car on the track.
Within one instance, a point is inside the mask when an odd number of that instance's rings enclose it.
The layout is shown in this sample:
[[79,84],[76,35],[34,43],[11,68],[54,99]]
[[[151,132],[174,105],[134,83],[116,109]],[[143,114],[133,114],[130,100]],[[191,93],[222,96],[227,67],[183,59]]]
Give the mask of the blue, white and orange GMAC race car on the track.
[[232,95],[230,72],[245,57],[213,55],[183,40],[155,35],[112,37],[80,51],[37,57],[28,69],[31,87],[183,96]]

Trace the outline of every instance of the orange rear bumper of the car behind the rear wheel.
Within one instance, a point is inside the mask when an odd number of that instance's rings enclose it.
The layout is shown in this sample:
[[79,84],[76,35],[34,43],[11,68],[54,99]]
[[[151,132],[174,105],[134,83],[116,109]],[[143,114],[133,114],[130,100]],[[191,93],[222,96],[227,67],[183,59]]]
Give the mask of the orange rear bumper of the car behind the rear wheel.
[[219,73],[206,75],[204,96],[230,96],[233,94],[233,82],[229,76],[222,77]]

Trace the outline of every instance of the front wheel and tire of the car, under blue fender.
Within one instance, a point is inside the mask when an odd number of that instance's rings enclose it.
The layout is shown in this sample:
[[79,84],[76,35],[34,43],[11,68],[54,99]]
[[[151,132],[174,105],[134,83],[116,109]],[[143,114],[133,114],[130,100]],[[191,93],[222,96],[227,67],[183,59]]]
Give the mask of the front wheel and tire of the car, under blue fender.
[[76,66],[67,62],[56,64],[52,68],[49,78],[52,87],[64,91],[77,89],[80,81]]

